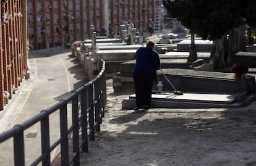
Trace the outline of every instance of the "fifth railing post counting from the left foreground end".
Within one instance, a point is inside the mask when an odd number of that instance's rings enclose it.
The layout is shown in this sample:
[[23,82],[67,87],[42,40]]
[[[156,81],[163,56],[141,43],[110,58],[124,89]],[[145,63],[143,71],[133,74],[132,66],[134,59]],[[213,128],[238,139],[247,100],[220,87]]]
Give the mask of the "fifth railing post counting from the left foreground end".
[[88,103],[86,99],[86,91],[82,91],[81,93],[81,125],[82,125],[82,141],[84,140],[85,142],[82,145],[82,151],[83,152],[88,152],[88,130],[87,130],[87,108],[88,108]]

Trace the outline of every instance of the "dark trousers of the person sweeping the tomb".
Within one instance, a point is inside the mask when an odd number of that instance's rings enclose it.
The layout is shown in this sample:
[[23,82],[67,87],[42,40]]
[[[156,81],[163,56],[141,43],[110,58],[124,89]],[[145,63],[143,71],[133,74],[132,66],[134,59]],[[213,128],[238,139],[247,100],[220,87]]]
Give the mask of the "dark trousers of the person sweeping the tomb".
[[133,76],[136,94],[136,107],[150,107],[151,89],[155,75],[148,72],[136,72]]

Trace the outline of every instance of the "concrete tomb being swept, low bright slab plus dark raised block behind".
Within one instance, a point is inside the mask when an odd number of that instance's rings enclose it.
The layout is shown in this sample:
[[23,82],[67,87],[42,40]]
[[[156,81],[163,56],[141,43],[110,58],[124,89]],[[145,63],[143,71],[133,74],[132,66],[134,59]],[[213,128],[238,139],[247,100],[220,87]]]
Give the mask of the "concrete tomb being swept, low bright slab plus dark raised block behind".
[[[176,95],[168,81],[158,71],[157,79],[163,81],[163,91],[152,95],[151,107],[207,108],[241,107],[255,99],[255,78],[247,75],[234,79],[234,73],[205,72],[181,68],[162,69],[174,88],[184,93]],[[123,109],[135,107],[135,94],[122,101]]]

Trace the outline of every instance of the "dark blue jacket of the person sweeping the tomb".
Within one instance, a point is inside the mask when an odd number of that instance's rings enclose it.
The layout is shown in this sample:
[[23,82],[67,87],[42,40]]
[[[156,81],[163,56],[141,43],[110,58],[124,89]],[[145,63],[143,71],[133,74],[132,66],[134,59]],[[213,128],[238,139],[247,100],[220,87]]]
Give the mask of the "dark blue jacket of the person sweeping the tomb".
[[135,53],[135,72],[149,72],[156,75],[156,70],[160,69],[160,57],[158,52],[150,47],[141,47]]

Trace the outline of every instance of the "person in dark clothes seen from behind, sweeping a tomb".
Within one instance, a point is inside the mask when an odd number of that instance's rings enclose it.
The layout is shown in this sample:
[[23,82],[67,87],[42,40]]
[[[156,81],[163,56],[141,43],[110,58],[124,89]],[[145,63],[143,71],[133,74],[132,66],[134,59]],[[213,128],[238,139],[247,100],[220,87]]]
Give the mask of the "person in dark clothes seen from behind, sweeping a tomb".
[[136,107],[134,110],[150,109],[153,81],[156,78],[156,70],[161,67],[160,57],[153,49],[154,46],[153,41],[148,41],[146,47],[140,47],[135,52],[133,77]]

